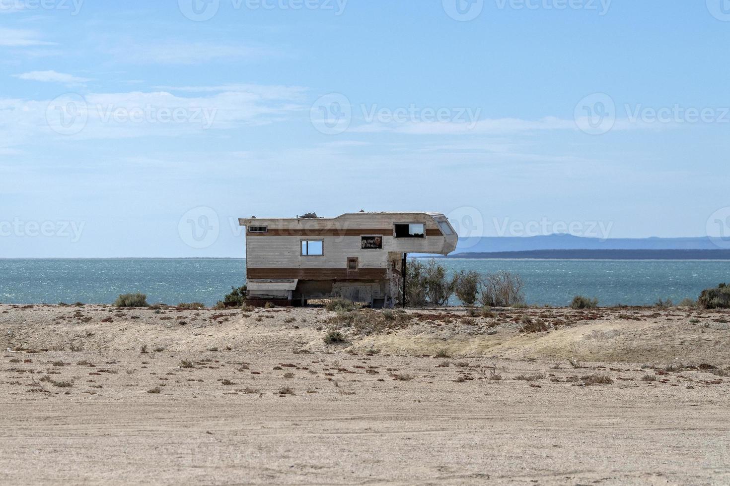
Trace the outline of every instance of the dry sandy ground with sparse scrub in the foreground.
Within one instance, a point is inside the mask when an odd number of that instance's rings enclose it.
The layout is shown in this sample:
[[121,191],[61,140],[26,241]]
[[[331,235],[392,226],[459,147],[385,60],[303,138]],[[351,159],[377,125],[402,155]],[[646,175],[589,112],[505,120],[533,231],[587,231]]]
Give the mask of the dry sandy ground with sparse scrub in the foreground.
[[726,485],[729,323],[0,305],[0,482]]

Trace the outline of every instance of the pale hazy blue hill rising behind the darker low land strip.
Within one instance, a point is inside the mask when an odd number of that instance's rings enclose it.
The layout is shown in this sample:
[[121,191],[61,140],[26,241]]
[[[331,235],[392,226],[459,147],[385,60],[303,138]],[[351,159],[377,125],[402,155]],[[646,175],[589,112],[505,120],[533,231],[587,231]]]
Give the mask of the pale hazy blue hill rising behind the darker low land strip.
[[455,254],[535,250],[718,250],[710,238],[583,238],[573,235],[459,238]]

